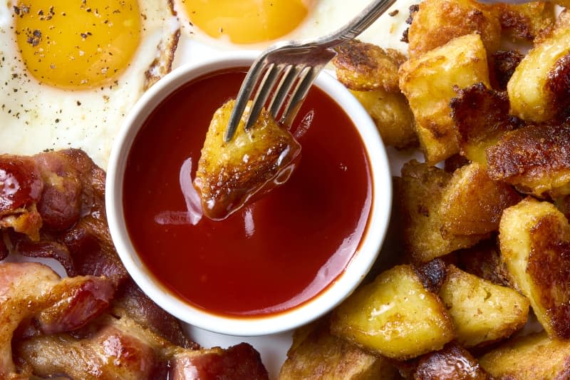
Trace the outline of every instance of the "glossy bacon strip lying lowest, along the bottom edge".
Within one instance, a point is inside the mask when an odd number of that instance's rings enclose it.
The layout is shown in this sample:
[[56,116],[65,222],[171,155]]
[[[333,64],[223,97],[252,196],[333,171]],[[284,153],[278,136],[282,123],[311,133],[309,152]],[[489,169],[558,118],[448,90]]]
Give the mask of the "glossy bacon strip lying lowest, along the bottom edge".
[[37,376],[72,379],[268,379],[259,353],[249,344],[229,349],[182,349],[128,317],[100,318],[88,337],[70,334],[32,337],[16,354]]

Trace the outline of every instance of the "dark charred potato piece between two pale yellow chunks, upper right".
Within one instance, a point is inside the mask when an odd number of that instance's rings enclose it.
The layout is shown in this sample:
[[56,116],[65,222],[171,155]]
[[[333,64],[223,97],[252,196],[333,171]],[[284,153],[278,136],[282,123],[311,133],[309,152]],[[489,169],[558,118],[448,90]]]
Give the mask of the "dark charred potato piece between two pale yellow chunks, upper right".
[[486,164],[485,149],[517,126],[509,116],[507,93],[490,90],[483,83],[457,91],[450,108],[461,154],[477,163]]

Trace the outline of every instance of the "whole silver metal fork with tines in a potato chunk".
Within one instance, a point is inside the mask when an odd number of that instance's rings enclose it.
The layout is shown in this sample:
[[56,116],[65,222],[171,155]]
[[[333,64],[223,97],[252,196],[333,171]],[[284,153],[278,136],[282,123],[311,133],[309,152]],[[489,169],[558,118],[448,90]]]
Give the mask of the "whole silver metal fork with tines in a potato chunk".
[[316,76],[336,56],[334,48],[356,38],[394,2],[395,0],[374,0],[348,24],[321,38],[281,41],[267,48],[249,68],[242,87],[239,88],[224,141],[229,142],[234,137],[252,94],[253,103],[245,118],[245,130],[254,125],[266,104],[266,109],[278,123],[290,126]]

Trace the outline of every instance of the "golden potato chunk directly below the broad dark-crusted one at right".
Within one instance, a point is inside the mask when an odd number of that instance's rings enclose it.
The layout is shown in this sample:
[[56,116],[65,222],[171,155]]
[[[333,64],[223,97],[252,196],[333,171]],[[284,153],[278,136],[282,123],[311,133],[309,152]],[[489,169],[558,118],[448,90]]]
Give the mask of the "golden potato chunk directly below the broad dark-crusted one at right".
[[503,210],[521,196],[502,182],[495,182],[480,163],[470,163],[453,173],[442,192],[437,214],[442,235],[483,235],[499,230]]

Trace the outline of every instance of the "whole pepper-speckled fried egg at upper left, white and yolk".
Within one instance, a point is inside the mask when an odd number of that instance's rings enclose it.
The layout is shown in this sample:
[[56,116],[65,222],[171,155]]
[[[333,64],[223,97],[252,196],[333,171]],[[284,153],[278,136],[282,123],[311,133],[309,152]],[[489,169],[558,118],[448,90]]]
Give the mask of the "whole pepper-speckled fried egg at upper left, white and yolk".
[[163,0],[0,4],[0,151],[82,148],[103,168],[122,120],[170,71],[180,34]]

